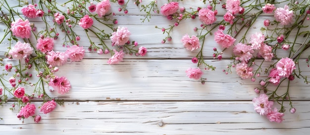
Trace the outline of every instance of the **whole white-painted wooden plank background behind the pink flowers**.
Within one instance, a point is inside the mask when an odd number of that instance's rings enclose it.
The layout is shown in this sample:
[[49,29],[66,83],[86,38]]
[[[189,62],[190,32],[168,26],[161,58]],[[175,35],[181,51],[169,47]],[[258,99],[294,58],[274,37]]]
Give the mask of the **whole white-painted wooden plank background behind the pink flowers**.
[[[8,1],[14,4],[15,0]],[[166,1],[158,0],[158,6],[163,2]],[[187,8],[205,6],[201,0],[185,0],[180,2],[182,5]],[[106,62],[110,55],[89,52],[89,42],[82,38],[79,43],[87,50],[85,59],[67,63],[57,73],[70,80],[71,91],[65,95],[50,94],[63,99],[65,105],[58,105],[49,114],[37,112],[42,116],[38,124],[32,118],[25,119],[22,124],[16,118],[17,111],[9,110],[12,104],[9,101],[0,106],[1,135],[308,135],[310,132],[310,91],[303,80],[295,79],[290,84],[290,96],[297,112],[286,111],[283,123],[270,123],[254,111],[252,99],[258,94],[253,90],[259,86],[258,81],[241,80],[235,73],[226,75],[222,69],[231,62],[230,54],[224,53],[221,61],[213,60],[212,48],[220,47],[212,36],[207,37],[204,51],[206,61],[216,70],[204,71],[203,77],[207,78],[204,85],[186,76],[185,70],[196,66],[191,58],[197,51],[187,51],[180,39],[184,34],[196,34],[193,29],[201,24],[198,18],[182,21],[174,29],[172,41],[161,44],[164,35],[155,25],[167,27],[173,25],[173,21],[154,14],[150,22],[141,23],[144,13],[139,12],[133,0],[128,4],[128,14],[118,12],[118,7],[112,4],[111,9],[116,13],[114,18],[118,19],[118,26],[128,27],[131,40],[148,48],[147,56],[126,55],[124,62],[109,66]],[[223,14],[224,10],[219,10],[218,20]],[[260,16],[255,24],[257,29],[251,29],[250,33],[258,32],[266,18],[272,19]],[[42,22],[36,25],[39,31],[44,28]],[[3,29],[1,25],[0,36],[3,36]],[[82,29],[80,31],[85,34]],[[8,41],[0,44],[1,57],[7,46]],[[55,50],[65,50],[61,42],[55,46]],[[301,62],[301,69],[310,76],[306,63]],[[35,74],[35,71],[30,72]],[[282,88],[286,86],[281,85]],[[40,103],[35,101],[36,106]]]

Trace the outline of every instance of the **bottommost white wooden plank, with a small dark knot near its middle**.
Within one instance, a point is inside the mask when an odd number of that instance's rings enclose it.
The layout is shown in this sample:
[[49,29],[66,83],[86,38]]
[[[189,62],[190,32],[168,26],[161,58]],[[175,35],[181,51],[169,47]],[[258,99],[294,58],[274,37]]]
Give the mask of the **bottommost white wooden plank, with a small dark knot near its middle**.
[[[2,134],[100,134],[100,135],[308,135],[310,101],[294,103],[296,114],[285,113],[281,124],[270,123],[255,112],[251,101],[164,101],[164,102],[65,102],[49,114],[40,114],[24,124],[17,111],[0,106]],[[35,102],[40,106],[40,102]],[[279,107],[279,106],[276,106]]]

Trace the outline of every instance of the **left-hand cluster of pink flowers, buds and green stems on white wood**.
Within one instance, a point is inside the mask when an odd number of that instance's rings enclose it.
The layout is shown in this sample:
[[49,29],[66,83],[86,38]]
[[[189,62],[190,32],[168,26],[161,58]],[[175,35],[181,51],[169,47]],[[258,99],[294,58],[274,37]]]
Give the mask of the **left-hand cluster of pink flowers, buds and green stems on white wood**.
[[[111,58],[107,61],[109,65],[123,61],[126,54],[147,54],[147,48],[137,47],[138,42],[130,40],[128,28],[115,27],[118,21],[113,19],[115,13],[110,11],[109,0],[33,2],[20,0],[16,6],[9,5],[6,0],[0,2],[0,24],[7,27],[0,43],[4,39],[9,41],[5,58],[0,58],[0,66],[5,69],[0,74],[0,104],[14,101],[11,110],[18,109],[19,119],[33,117],[35,122],[39,122],[41,116],[36,108],[47,114],[57,104],[63,105],[48,93],[57,91],[61,95],[67,94],[73,86],[65,76],[58,76],[57,72],[68,62],[82,61],[87,51],[110,54]],[[118,3],[122,5],[124,0],[118,0]],[[46,23],[42,31],[37,30],[34,18]],[[52,23],[48,21],[50,18]],[[100,25],[100,28],[96,25]],[[81,30],[84,30],[86,38],[79,35],[81,32],[76,32]],[[82,46],[80,40],[88,40],[90,44]],[[62,46],[56,45],[59,42],[62,42]],[[34,76],[29,73],[33,71],[37,72]],[[42,105],[32,103],[35,99],[43,101]]]

